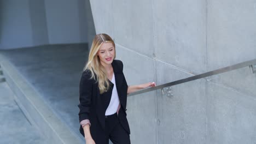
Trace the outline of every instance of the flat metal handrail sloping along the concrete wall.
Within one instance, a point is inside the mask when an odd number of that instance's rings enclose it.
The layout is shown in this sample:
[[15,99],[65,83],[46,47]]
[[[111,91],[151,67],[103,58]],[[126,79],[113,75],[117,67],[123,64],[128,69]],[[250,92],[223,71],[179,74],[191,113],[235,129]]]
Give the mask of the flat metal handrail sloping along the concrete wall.
[[181,80],[177,80],[177,81],[173,81],[173,82],[168,82],[168,83],[165,83],[163,85],[156,86],[156,87],[146,88],[146,89],[143,89],[141,91],[130,93],[127,96],[130,97],[132,95],[146,93],[146,92],[154,91],[156,89],[161,89],[161,88],[170,87],[170,86],[178,85],[178,84],[189,82],[189,81],[194,81],[194,80],[197,80],[197,79],[202,79],[204,77],[217,75],[217,74],[225,73],[227,71],[236,70],[236,69],[240,69],[240,68],[248,67],[248,66],[251,68],[252,73],[256,73],[255,70],[254,70],[254,68],[255,68],[254,64],[256,64],[256,59],[253,59],[251,61],[238,63],[238,64],[234,64],[234,65],[230,65],[229,67],[224,67],[224,68],[220,68],[220,69],[217,69],[217,70],[208,71],[206,73],[191,76],[191,77],[187,77],[185,79],[181,79]]

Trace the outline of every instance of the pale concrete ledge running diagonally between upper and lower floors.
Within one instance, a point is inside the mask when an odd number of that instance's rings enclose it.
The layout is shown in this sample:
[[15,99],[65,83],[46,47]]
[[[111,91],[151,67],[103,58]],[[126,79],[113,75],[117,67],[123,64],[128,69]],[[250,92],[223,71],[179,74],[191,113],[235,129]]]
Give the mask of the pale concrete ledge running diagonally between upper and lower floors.
[[15,93],[18,103],[28,121],[39,129],[50,143],[82,143],[82,139],[55,115],[34,87],[10,62],[1,63],[8,85]]

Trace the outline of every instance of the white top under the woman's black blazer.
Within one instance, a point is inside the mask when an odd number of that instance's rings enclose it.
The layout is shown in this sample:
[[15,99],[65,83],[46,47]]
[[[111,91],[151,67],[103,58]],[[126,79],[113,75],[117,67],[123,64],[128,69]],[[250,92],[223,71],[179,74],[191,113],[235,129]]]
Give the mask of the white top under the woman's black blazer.
[[117,112],[118,106],[119,106],[119,103],[120,103],[118,93],[117,93],[117,87],[115,86],[115,75],[114,75],[114,73],[113,73],[113,77],[112,77],[111,82],[114,83],[114,87],[113,87],[113,90],[112,90],[110,103],[109,103],[108,108],[105,112],[105,116],[113,115],[115,112]]

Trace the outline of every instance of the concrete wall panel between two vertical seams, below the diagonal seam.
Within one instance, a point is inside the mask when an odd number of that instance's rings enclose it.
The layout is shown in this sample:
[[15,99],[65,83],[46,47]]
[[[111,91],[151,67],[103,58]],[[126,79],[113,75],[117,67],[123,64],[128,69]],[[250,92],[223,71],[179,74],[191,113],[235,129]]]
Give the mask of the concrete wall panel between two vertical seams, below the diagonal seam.
[[[156,62],[158,83],[191,76],[169,64]],[[158,92],[159,143],[206,143],[207,97],[205,80],[172,86],[173,96]]]

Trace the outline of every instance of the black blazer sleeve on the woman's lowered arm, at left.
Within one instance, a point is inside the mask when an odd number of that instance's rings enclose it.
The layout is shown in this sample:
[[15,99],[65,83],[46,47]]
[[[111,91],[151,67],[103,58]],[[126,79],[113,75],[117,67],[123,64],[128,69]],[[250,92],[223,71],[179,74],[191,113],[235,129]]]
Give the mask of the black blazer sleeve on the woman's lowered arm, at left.
[[91,106],[91,97],[92,97],[92,85],[93,78],[90,79],[91,73],[90,70],[85,70],[82,74],[80,85],[79,85],[79,122],[84,119],[90,119],[90,106]]

